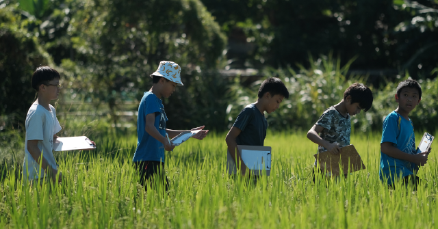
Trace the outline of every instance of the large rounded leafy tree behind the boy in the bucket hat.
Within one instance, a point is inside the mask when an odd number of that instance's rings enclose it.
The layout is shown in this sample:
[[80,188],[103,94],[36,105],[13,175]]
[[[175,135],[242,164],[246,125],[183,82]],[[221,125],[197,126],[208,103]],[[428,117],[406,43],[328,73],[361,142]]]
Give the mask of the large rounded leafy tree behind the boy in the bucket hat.
[[75,4],[77,10],[68,27],[75,55],[62,61],[72,87],[92,92],[86,96],[93,103],[104,101],[114,111],[118,101],[141,98],[159,62],[171,60],[181,66],[185,87],[179,96],[170,98],[179,107],[170,118],[181,121],[181,105],[191,103],[191,82],[202,70],[216,68],[226,43],[203,4],[198,0],[83,0]]

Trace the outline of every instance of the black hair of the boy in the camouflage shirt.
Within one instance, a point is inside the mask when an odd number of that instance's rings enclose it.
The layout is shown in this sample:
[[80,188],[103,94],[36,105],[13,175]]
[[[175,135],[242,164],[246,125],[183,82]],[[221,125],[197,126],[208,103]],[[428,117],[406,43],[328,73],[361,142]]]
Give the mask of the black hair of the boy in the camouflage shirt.
[[350,85],[344,92],[344,99],[346,99],[347,96],[351,96],[350,103],[359,103],[359,106],[365,109],[365,112],[372,106],[372,92],[370,87],[363,85],[363,83],[353,83]]

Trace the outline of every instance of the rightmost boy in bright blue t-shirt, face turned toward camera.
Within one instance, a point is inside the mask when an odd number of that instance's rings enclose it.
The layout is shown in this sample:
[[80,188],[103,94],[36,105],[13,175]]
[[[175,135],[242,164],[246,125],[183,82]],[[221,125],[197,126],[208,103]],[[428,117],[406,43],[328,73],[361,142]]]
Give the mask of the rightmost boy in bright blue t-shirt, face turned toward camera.
[[392,187],[399,179],[416,187],[419,182],[416,173],[426,164],[430,149],[417,153],[413,123],[408,116],[420,103],[422,88],[417,81],[407,79],[398,84],[395,97],[398,107],[383,121],[379,176]]

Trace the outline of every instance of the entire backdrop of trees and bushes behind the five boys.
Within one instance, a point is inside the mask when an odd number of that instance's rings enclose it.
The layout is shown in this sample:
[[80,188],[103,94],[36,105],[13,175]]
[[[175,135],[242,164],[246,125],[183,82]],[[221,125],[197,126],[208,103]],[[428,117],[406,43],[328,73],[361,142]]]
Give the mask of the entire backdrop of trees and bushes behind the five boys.
[[[437,28],[437,0],[1,0],[0,129],[23,130],[40,64],[62,72],[60,103],[88,104],[115,126],[128,122],[120,112],[136,112],[125,104],[138,103],[163,59],[183,67],[185,86],[164,101],[175,129],[227,129],[268,76],[288,80],[292,97],[271,116],[272,128],[307,129],[361,81],[381,104],[356,126],[379,129],[394,107],[391,87],[404,77],[426,83],[425,96],[435,98]],[[233,68],[258,73],[222,73]],[[435,117],[434,100],[424,101],[419,117]],[[435,129],[426,119],[414,124]]]

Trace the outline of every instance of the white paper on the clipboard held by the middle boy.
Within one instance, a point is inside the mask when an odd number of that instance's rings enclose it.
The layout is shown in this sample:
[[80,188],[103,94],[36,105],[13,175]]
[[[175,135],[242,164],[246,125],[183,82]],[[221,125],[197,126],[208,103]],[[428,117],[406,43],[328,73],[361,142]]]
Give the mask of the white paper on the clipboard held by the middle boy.
[[269,151],[242,150],[242,160],[250,170],[270,170],[269,153]]

